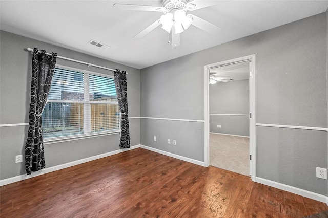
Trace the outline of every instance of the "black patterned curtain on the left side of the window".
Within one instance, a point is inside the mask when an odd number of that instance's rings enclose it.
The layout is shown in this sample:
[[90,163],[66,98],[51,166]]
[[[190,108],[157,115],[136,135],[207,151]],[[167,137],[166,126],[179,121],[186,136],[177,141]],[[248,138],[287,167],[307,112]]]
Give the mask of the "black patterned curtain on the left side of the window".
[[46,105],[55,69],[57,54],[34,48],[32,57],[32,82],[30,127],[25,145],[25,169],[27,174],[45,168],[41,114]]

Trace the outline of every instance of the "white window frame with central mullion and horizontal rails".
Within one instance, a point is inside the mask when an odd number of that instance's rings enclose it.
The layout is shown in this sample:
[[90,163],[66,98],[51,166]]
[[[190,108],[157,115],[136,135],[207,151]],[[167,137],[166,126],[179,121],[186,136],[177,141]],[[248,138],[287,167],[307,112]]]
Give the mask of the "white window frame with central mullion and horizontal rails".
[[[89,96],[89,93],[90,93],[90,90],[89,90],[89,85],[90,85],[89,75],[107,77],[107,78],[112,78],[112,79],[114,79],[114,76],[104,74],[104,73],[98,73],[98,72],[94,72],[94,71],[88,71],[88,70],[83,70],[83,69],[78,69],[78,68],[73,68],[73,67],[67,67],[67,66],[63,66],[63,65],[60,65],[60,64],[56,64],[55,68],[61,68],[61,69],[66,69],[66,70],[70,70],[70,71],[76,71],[76,72],[79,72],[79,73],[83,73],[84,74],[84,83],[83,83],[84,84],[84,96],[87,97],[87,100],[85,100],[85,98],[84,98],[83,101],[47,99],[46,104],[49,102],[49,103],[82,103],[83,105],[89,104],[90,106],[91,106],[91,104],[115,104],[115,105],[118,105],[117,101],[90,101],[90,99],[89,99],[89,97],[90,97]],[[118,108],[118,112],[119,112],[119,108]],[[91,117],[87,117],[87,115],[90,115],[90,114],[88,114],[88,113],[83,114],[84,123],[86,121],[91,122]],[[119,122],[119,120],[118,120],[118,122]],[[91,125],[89,125],[89,127],[90,126]],[[120,132],[120,129],[119,129],[119,126],[118,126],[117,129],[100,131],[100,132],[90,132],[90,133],[69,135],[69,136],[51,137],[51,138],[45,138],[43,141],[44,141],[45,144],[51,144],[51,143],[58,143],[58,142],[65,142],[65,141],[80,140],[80,139],[86,139],[86,138],[93,138],[93,137],[99,137],[99,136],[119,134],[119,132]]]

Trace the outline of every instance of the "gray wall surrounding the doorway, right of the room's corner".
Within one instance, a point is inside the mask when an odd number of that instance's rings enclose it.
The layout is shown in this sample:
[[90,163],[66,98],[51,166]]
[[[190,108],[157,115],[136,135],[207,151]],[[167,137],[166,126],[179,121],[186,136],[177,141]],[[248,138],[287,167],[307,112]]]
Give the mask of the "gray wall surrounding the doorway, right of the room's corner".
[[[141,116],[203,120],[204,66],[251,54],[257,123],[327,127],[326,13],[142,69]],[[166,122],[142,120],[141,144],[203,161],[204,124]],[[157,133],[144,126],[160,131],[163,141],[177,133],[179,145],[158,146],[152,141]],[[256,133],[257,177],[327,194],[315,168],[327,167],[326,132],[257,126]]]

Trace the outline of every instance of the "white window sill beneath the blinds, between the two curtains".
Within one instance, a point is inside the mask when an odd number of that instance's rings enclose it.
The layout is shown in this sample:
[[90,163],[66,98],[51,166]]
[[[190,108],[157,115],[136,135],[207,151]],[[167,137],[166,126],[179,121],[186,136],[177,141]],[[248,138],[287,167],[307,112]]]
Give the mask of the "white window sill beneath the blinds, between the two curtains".
[[74,140],[80,140],[80,139],[88,139],[88,138],[94,138],[99,136],[108,136],[108,135],[114,135],[119,134],[119,130],[113,130],[108,132],[102,132],[102,133],[91,133],[91,134],[83,134],[83,135],[77,135],[77,136],[67,136],[67,137],[56,137],[56,138],[48,138],[44,139],[44,144],[54,144],[54,143],[60,143],[60,142],[68,142],[68,141],[74,141]]

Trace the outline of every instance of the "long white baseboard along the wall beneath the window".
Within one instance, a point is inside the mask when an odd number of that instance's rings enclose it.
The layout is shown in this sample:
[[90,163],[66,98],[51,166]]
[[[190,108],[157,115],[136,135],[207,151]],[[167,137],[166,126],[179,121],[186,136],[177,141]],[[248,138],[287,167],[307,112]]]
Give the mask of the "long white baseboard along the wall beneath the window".
[[105,154],[100,154],[100,155],[92,156],[92,157],[89,157],[89,158],[84,158],[84,159],[81,159],[81,160],[72,161],[72,162],[69,162],[69,163],[60,164],[60,165],[49,167],[49,168],[44,168],[44,169],[39,170],[37,172],[32,172],[31,175],[24,174],[24,175],[19,175],[19,176],[11,177],[11,178],[8,178],[8,179],[0,180],[0,186],[8,185],[10,183],[14,183],[14,182],[18,182],[18,181],[22,181],[22,180],[26,180],[26,179],[30,179],[30,178],[33,178],[33,177],[37,177],[37,176],[49,173],[49,172],[53,172],[53,171],[56,171],[56,170],[60,170],[60,169],[68,168],[68,167],[71,167],[71,166],[75,166],[75,165],[78,165],[78,164],[81,164],[81,163],[86,163],[86,162],[97,160],[97,159],[100,159],[100,158],[105,158],[105,157],[108,157],[108,156],[111,156],[111,155],[116,155],[118,153],[128,151],[128,150],[132,150],[132,149],[139,148],[139,147],[140,147],[140,145],[134,145],[134,146],[131,146],[130,148],[118,149],[118,150],[114,150],[114,151],[111,151],[111,152],[107,152]]

